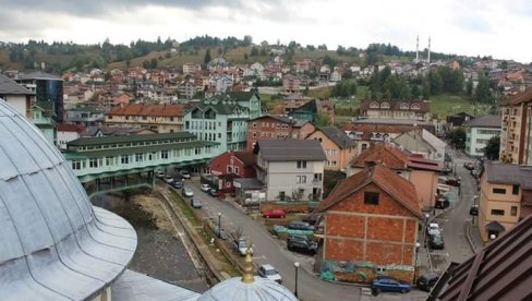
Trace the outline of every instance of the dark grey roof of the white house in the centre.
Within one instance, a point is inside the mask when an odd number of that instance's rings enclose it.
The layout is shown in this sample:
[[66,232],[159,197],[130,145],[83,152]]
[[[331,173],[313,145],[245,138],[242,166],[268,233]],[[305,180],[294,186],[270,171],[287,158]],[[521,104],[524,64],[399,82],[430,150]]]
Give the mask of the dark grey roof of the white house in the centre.
[[327,159],[317,140],[259,140],[257,144],[262,157],[267,161],[323,161]]

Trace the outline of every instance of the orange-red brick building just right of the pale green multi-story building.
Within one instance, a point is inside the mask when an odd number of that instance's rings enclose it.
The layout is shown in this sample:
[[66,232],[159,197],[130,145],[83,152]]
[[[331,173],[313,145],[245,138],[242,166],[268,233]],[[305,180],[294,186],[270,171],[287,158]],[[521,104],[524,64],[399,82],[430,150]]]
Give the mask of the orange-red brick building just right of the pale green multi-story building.
[[252,150],[258,140],[305,139],[314,132],[307,120],[288,116],[267,115],[247,121],[247,150]]

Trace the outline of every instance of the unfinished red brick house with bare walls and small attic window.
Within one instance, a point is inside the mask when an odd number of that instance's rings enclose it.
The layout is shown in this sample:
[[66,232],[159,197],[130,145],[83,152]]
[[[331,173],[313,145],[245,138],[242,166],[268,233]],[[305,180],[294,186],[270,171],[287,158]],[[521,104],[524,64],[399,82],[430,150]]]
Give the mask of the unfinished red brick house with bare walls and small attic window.
[[342,180],[315,212],[324,216],[323,264],[350,267],[331,270],[338,280],[370,282],[379,274],[413,280],[423,215],[410,181],[374,164]]

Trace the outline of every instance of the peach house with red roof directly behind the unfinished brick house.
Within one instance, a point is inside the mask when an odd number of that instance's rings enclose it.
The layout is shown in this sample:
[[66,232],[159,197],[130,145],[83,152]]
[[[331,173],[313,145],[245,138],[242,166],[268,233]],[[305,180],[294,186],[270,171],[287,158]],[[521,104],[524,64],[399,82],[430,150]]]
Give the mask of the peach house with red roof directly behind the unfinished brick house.
[[419,206],[423,209],[434,208],[436,205],[438,176],[443,168],[438,161],[409,154],[392,144],[382,143],[372,145],[372,147],[362,152],[350,164],[348,176],[363,171],[372,162],[383,164],[412,182],[420,201]]

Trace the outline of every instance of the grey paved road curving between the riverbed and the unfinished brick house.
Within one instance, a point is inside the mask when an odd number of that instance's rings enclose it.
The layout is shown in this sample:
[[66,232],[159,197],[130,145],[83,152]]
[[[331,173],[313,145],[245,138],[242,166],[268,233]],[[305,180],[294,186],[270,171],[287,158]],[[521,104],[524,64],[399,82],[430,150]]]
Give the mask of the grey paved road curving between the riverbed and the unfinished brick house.
[[[241,228],[243,236],[253,243],[254,262],[257,264],[273,264],[281,274],[283,285],[294,289],[294,262],[302,263],[304,268],[299,269],[298,294],[306,301],[322,300],[361,300],[361,287],[355,285],[340,285],[321,280],[312,274],[313,257],[289,252],[285,245],[274,239],[258,222],[227,201],[218,201],[200,191],[195,181],[186,180],[186,185],[194,191],[194,196],[203,201],[204,213],[215,222],[218,221],[218,212],[221,213],[221,228],[227,232]],[[426,293],[413,290],[408,294],[382,293],[378,297],[364,297],[364,300],[425,300]]]

